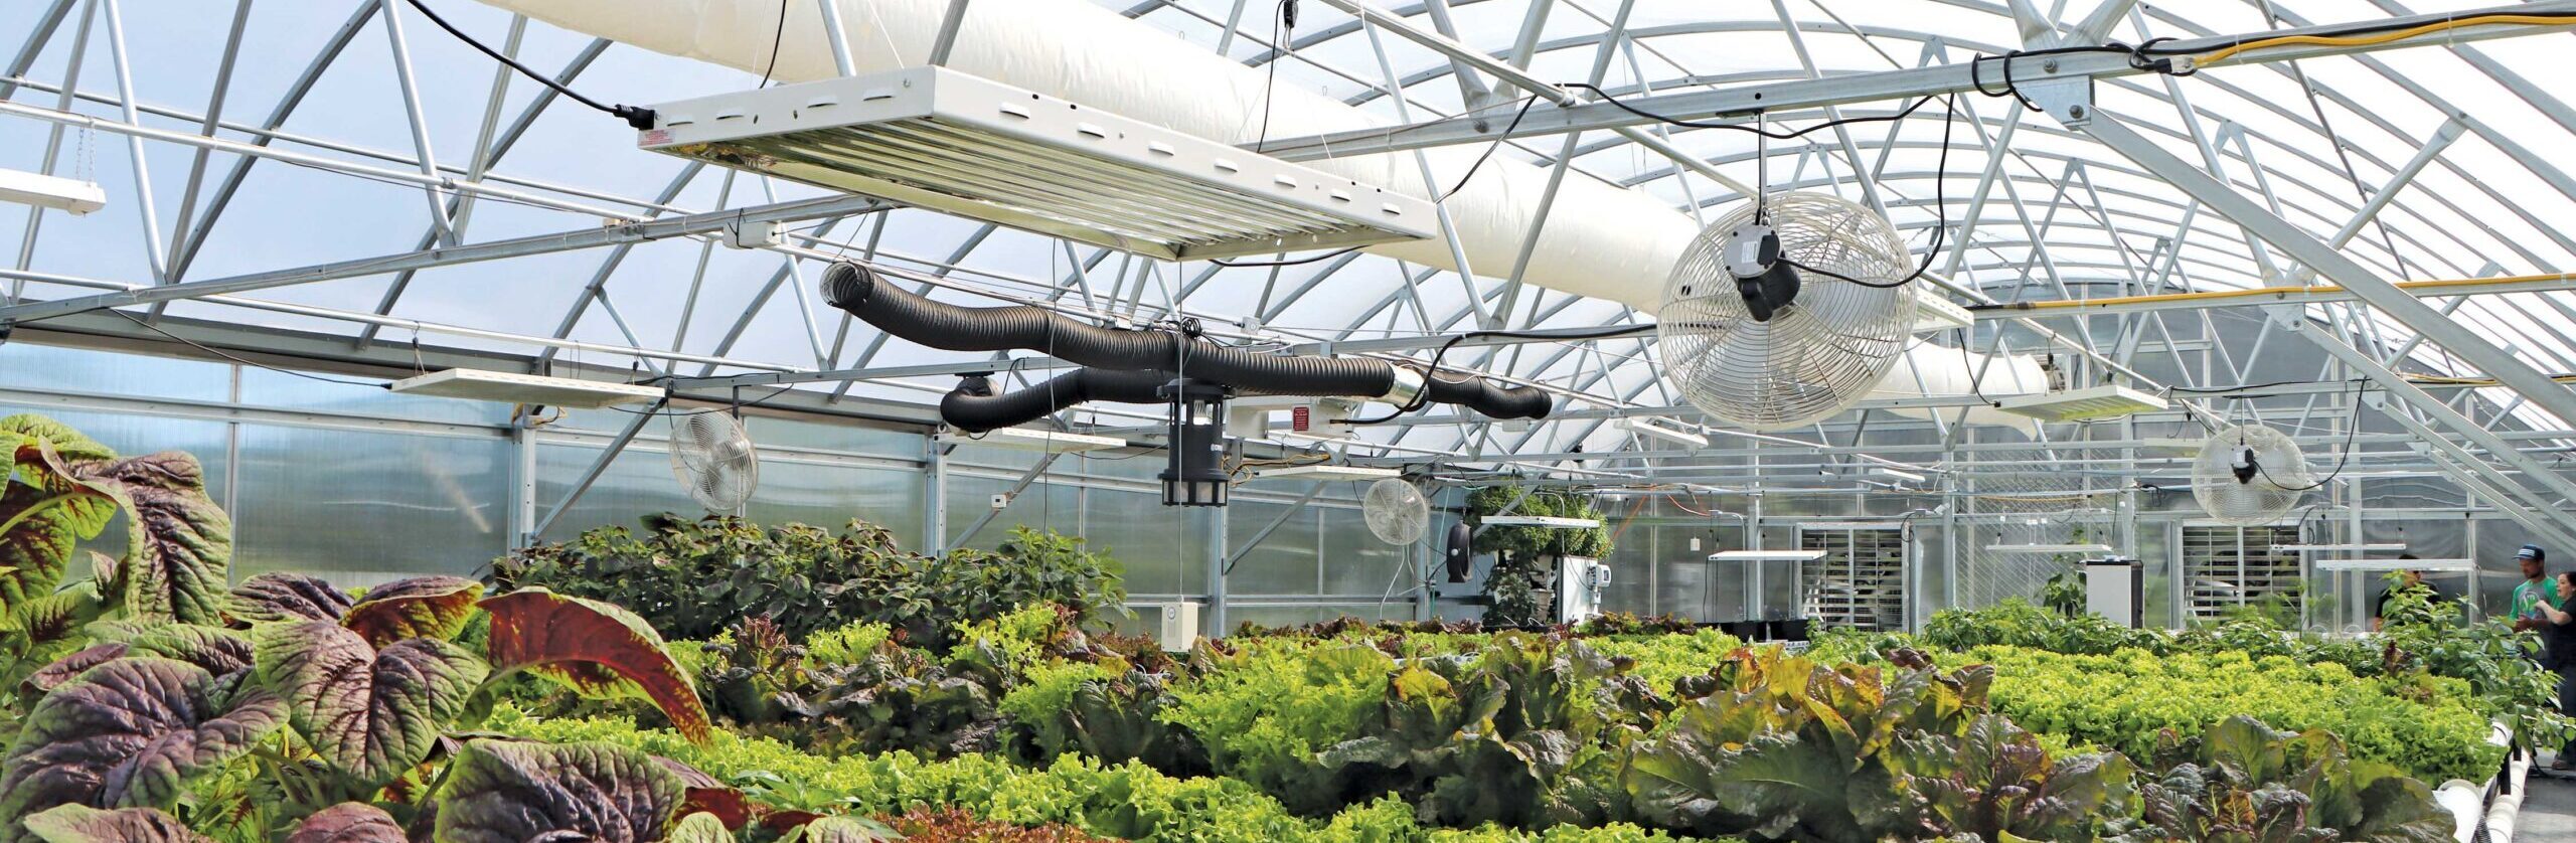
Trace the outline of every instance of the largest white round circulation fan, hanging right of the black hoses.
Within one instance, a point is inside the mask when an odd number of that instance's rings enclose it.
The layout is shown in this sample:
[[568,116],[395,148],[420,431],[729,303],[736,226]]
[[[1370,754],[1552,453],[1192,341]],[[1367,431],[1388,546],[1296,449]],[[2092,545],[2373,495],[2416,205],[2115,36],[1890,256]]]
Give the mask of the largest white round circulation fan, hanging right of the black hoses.
[[1826,196],[1726,214],[1664,281],[1656,338],[1692,407],[1752,431],[1824,420],[1870,394],[1914,335],[1896,227]]

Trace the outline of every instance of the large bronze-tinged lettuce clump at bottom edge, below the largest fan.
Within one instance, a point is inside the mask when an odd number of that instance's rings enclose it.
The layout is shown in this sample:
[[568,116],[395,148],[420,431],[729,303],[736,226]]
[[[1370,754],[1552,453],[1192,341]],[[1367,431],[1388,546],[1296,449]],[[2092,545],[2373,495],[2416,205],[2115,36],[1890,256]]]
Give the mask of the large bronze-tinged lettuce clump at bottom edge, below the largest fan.
[[1682,688],[1623,779],[1646,825],[1757,840],[2089,840],[2130,809],[2117,753],[2048,753],[1986,714],[1994,673],[1747,650]]

